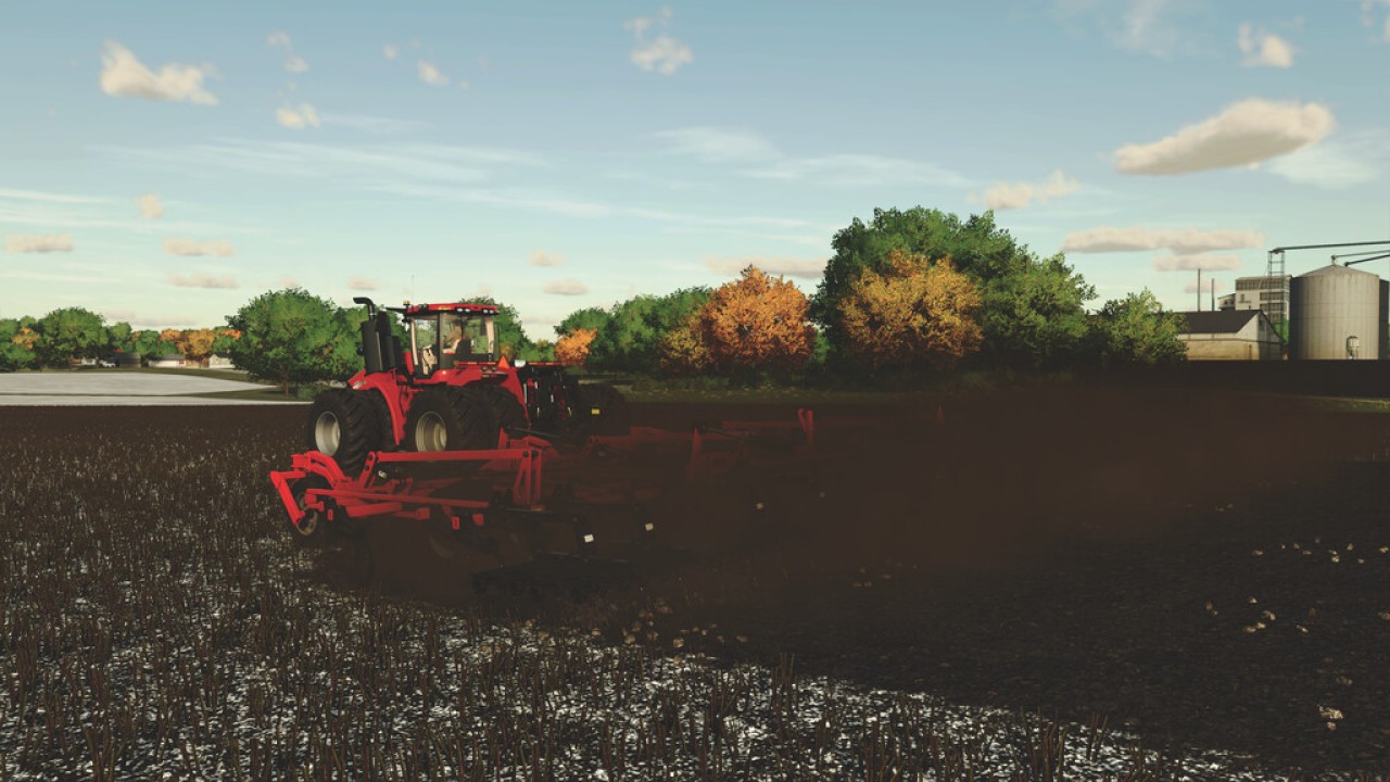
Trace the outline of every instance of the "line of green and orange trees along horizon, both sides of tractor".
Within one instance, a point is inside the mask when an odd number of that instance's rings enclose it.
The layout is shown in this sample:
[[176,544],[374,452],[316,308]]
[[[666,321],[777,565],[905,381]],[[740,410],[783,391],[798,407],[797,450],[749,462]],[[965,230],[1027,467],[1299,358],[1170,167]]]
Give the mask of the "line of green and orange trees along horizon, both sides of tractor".
[[[1147,289],[1087,313],[1095,289],[1062,253],[1038,257],[994,223],[935,209],[874,210],[838,231],[806,296],[756,266],[719,288],[638,295],[570,313],[555,340],[531,340],[520,313],[498,306],[500,352],[598,372],[652,376],[877,376],[970,366],[1068,369],[1182,360],[1180,316]],[[463,299],[461,299],[463,301]],[[265,292],[221,328],[132,331],[81,308],[0,320],[0,369],[53,366],[111,351],[229,353],[282,384],[343,378],[363,366],[364,308],[300,288]]]

